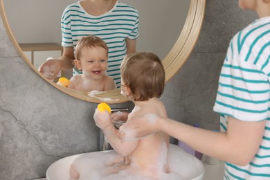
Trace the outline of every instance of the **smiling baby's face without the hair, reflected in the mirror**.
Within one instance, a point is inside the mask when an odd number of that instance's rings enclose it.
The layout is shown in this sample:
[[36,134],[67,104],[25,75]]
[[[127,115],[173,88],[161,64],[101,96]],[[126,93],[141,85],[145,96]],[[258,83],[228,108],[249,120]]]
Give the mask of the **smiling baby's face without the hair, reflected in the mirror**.
[[105,48],[83,48],[80,58],[80,69],[84,75],[91,79],[100,79],[108,69],[108,56]]

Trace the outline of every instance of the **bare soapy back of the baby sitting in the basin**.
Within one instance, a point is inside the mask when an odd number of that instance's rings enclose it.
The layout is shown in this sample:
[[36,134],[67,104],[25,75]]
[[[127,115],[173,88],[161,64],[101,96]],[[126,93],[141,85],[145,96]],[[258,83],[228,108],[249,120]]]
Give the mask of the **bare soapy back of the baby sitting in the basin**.
[[[129,119],[138,116],[149,116],[147,120],[155,121],[155,116],[166,117],[167,113],[161,101],[152,98],[149,103],[136,107]],[[138,140],[134,151],[127,156],[132,167],[139,167],[147,177],[159,176],[159,172],[167,171],[169,136],[162,132],[156,132]],[[158,177],[156,177],[158,178]]]

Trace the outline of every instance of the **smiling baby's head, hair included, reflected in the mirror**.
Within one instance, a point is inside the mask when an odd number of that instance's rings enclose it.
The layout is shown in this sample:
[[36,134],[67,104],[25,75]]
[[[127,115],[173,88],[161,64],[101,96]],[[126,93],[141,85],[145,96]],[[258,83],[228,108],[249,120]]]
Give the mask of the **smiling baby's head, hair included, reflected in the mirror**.
[[75,66],[91,78],[99,78],[108,68],[107,44],[96,36],[82,37],[75,48]]

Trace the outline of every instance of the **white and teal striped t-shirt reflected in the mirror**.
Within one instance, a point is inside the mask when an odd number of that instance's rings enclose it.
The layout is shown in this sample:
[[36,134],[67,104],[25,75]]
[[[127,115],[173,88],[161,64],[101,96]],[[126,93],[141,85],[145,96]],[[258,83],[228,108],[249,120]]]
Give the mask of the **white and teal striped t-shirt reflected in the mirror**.
[[[89,15],[80,5],[80,1],[68,6],[62,15],[62,46],[73,47],[78,40],[88,35],[103,39],[109,48],[107,74],[114,78],[116,87],[120,87],[120,64],[127,53],[125,39],[138,37],[138,10],[116,2],[115,6],[103,15]],[[79,71],[73,69],[73,75]]]

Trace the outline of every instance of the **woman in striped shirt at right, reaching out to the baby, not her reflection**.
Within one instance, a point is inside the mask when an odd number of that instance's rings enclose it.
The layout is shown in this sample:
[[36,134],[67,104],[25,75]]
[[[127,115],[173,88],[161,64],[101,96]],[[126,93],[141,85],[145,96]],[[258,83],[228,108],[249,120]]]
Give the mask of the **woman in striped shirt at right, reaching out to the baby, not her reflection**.
[[[270,0],[239,0],[239,6],[257,12],[260,19],[229,44],[214,106],[221,115],[221,132],[161,117],[148,123],[147,116],[123,126],[136,132],[136,138],[165,132],[224,160],[224,179],[270,179]],[[118,136],[125,139],[125,134]]]

